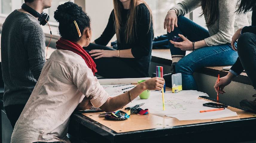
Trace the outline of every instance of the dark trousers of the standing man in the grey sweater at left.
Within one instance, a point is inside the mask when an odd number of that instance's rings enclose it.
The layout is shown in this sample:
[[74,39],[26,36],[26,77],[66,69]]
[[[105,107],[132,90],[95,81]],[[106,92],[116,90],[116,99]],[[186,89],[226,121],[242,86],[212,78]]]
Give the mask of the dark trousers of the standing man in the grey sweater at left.
[[4,107],[4,110],[13,128],[19,119],[19,115],[21,114],[24,107],[25,105],[9,105]]

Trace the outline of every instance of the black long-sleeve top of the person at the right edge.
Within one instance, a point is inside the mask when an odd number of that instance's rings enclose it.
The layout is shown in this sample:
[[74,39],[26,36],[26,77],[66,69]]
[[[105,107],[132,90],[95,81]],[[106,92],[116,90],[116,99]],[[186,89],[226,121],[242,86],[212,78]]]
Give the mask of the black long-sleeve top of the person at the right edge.
[[[243,29],[241,31],[241,34],[246,33],[246,32],[256,34],[256,7],[254,7],[252,9],[252,25],[251,26],[243,27]],[[230,72],[232,74],[239,75],[239,74],[241,74],[243,72],[243,70],[244,69],[243,69],[242,63],[240,61],[240,58],[238,57],[237,61],[231,67],[231,71]],[[234,71],[235,73],[232,72],[232,71]]]

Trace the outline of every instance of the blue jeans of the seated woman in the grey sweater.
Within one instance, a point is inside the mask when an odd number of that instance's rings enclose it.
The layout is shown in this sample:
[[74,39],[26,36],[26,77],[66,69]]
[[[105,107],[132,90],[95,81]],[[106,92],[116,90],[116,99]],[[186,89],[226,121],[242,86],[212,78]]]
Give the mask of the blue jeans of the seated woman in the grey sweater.
[[[182,34],[190,41],[201,41],[210,37],[207,29],[199,26],[184,16],[178,17],[178,28],[168,33],[168,40],[173,36]],[[186,51],[174,47],[172,43],[168,43],[171,55],[184,55]],[[236,43],[235,43],[236,45]],[[191,52],[183,57],[176,64],[176,73],[182,74],[182,88],[184,90],[198,90],[196,81],[193,78],[193,72],[206,66],[227,66],[233,65],[237,60],[237,52],[235,52],[230,43],[217,46],[206,46]]]

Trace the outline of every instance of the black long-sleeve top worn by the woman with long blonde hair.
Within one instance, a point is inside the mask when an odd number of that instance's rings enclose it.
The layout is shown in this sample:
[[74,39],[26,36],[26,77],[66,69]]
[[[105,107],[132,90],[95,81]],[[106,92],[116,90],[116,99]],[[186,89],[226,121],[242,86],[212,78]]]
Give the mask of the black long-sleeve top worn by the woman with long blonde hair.
[[[124,27],[127,22],[129,10],[123,9],[121,12],[122,25],[120,30],[120,42],[117,42],[118,50],[131,49],[135,58],[121,58],[129,66],[138,71],[138,77],[148,77],[148,69],[151,60],[152,41],[154,37],[153,23],[150,21],[150,12],[145,4],[138,5],[136,18],[136,37],[132,43],[126,43]],[[150,24],[151,23],[151,24]],[[150,25],[150,28],[149,28]],[[108,24],[102,35],[95,40],[96,44],[106,46],[115,35],[115,15],[112,10]]]

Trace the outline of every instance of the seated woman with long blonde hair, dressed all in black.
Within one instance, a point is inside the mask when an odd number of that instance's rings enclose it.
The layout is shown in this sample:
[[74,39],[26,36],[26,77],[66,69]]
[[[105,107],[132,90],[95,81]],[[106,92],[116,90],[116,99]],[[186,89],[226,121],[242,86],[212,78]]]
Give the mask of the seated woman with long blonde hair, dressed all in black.
[[[86,47],[97,65],[96,74],[106,78],[147,77],[154,36],[151,10],[143,0],[113,3],[102,35]],[[115,34],[117,49],[107,47]]]

